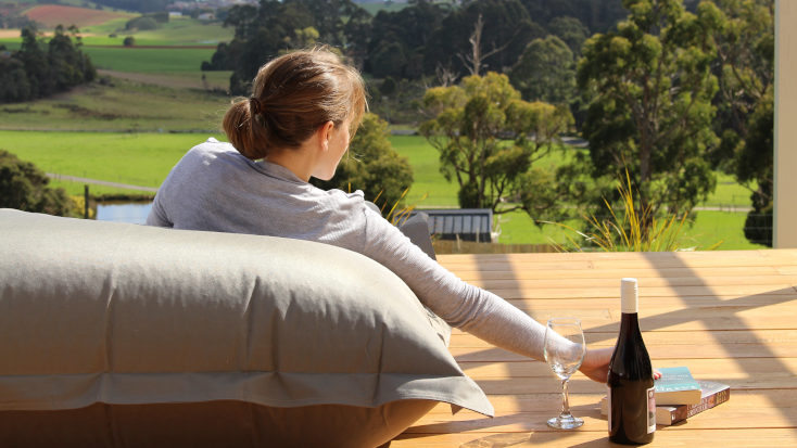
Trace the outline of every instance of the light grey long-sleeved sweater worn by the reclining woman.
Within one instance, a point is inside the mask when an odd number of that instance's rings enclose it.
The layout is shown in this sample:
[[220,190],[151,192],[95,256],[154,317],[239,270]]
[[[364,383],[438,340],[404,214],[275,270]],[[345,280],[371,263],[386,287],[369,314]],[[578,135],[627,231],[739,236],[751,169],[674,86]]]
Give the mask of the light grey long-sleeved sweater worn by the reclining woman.
[[317,189],[284,167],[248,159],[229,143],[211,138],[191,149],[157,191],[147,225],[316,241],[360,253],[399,276],[452,327],[544,359],[545,327],[441,267],[366,206],[362,191]]

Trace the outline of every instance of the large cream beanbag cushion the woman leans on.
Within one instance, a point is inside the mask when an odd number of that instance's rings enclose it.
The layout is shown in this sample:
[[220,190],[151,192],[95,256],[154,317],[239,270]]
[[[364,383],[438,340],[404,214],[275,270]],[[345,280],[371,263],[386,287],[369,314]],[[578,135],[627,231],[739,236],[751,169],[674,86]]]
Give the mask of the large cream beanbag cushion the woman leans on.
[[[486,415],[413,292],[330,245],[0,210],[9,446],[379,446]],[[435,330],[437,329],[437,330]]]

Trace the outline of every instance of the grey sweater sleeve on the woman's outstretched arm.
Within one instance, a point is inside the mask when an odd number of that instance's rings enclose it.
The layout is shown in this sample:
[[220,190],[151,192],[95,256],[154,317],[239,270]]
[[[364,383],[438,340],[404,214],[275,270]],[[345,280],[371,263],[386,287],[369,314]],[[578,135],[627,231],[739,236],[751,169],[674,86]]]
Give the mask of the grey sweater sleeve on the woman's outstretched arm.
[[[366,207],[367,208],[367,207]],[[364,255],[401,278],[452,327],[497,347],[544,360],[545,327],[497,295],[461,281],[379,214],[366,209]],[[557,337],[558,344],[573,343]]]

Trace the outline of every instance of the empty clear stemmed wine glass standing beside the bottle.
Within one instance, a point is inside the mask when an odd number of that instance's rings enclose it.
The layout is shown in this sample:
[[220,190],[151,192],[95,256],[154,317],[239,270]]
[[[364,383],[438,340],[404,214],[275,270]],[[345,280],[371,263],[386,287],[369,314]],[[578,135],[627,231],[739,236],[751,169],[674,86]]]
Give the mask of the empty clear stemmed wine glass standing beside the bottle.
[[570,375],[575,373],[584,360],[586,344],[581,331],[581,321],[571,318],[548,319],[545,328],[545,360],[561,379],[562,399],[561,414],[548,420],[548,426],[559,430],[572,430],[584,424],[581,419],[570,413],[567,397],[567,384]]

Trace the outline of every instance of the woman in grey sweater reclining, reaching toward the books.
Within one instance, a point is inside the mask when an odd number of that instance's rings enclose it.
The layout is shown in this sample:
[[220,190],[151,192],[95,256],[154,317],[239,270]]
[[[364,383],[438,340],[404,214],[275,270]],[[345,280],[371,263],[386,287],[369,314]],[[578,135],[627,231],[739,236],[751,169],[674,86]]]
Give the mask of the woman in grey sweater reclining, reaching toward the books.
[[[322,191],[367,106],[363,79],[328,50],[298,51],[257,73],[252,98],[175,166],[155,196],[150,226],[309,240],[366,255],[396,273],[452,327],[543,360],[545,327],[429,258],[366,206],[363,192]],[[257,162],[256,162],[257,161]],[[611,348],[587,350],[581,372],[605,383]]]

